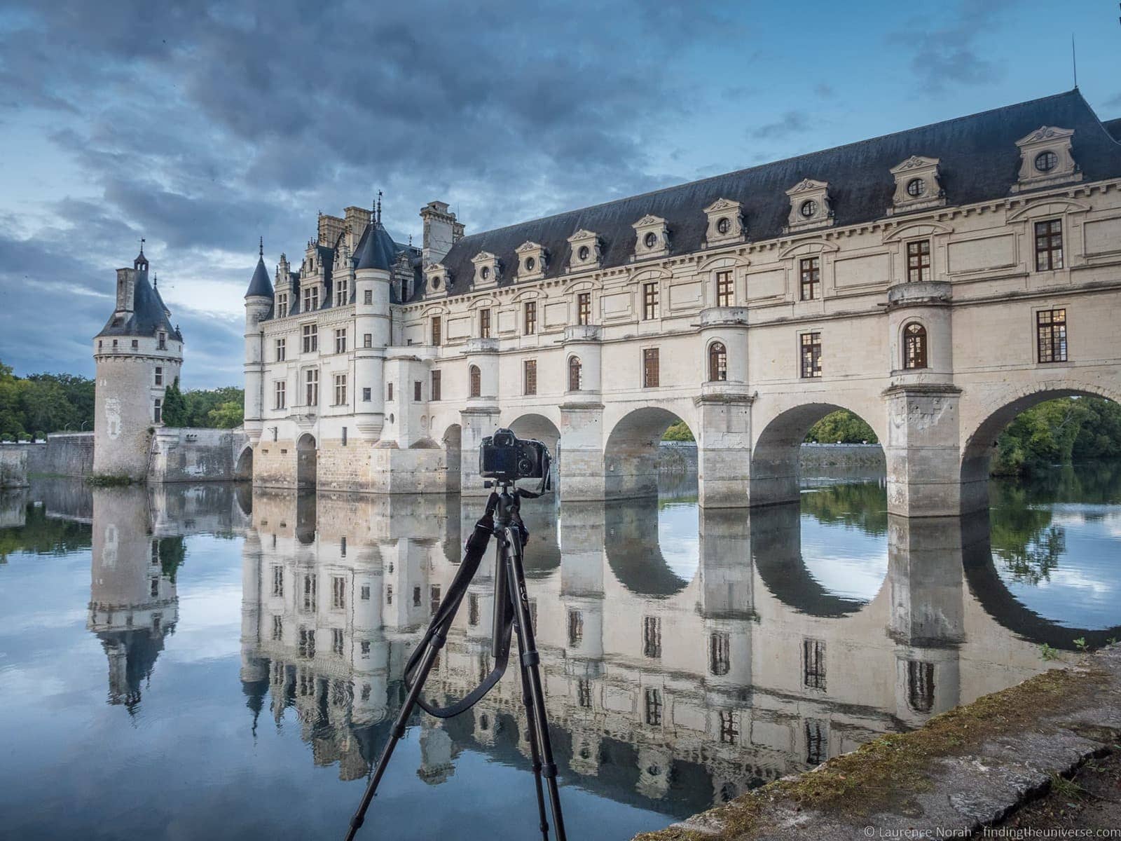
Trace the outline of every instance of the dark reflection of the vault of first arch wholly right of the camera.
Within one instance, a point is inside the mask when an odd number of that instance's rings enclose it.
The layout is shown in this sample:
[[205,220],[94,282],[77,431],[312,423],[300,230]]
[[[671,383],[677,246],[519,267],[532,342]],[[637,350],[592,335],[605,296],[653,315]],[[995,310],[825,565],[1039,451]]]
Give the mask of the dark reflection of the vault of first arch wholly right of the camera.
[[666,562],[658,542],[656,499],[609,505],[604,511],[604,548],[615,579],[637,595],[666,599],[689,582]]

